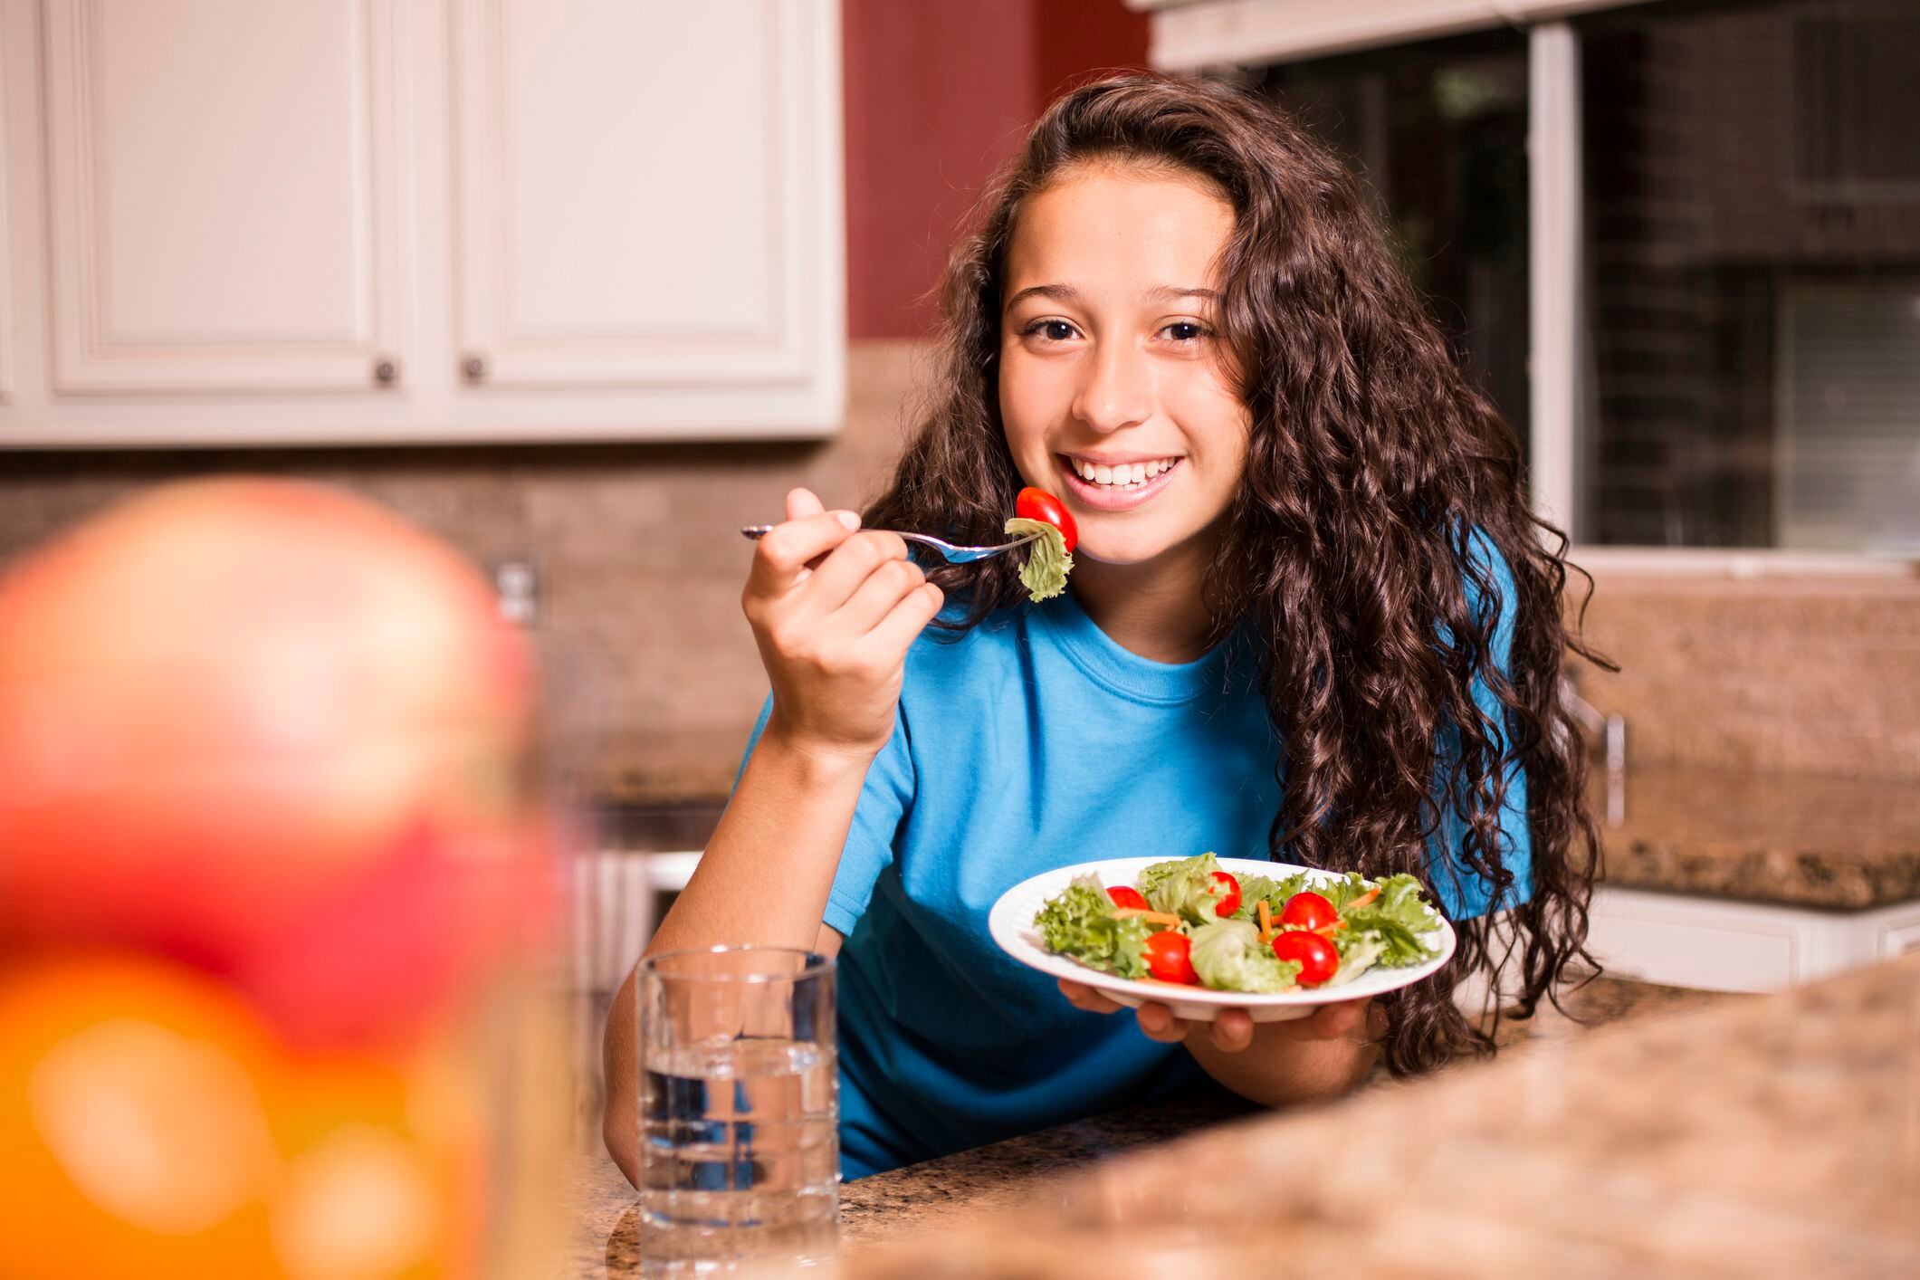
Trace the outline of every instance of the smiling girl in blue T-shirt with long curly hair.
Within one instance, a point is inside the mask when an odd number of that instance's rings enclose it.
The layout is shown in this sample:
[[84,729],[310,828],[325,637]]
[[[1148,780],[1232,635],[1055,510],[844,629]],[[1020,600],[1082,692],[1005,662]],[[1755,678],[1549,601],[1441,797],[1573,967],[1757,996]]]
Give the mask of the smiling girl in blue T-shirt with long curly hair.
[[[1377,1055],[1490,1052],[1453,986],[1503,960],[1494,917],[1521,1015],[1582,956],[1597,837],[1557,691],[1586,651],[1565,537],[1359,184],[1258,98],[1091,84],[989,192],[943,301],[939,388],[885,495],[862,522],[795,489],[755,551],[772,699],[651,950],[839,954],[849,1178],[1202,1073],[1277,1105]],[[1027,484],[1079,524],[1041,604],[1014,557],[924,572],[858,532],[1000,541]],[[987,935],[1037,871],[1204,850],[1413,871],[1457,960],[1371,1007],[1188,1027],[1100,1017],[1117,1006]],[[630,990],[607,1054],[634,1176]]]

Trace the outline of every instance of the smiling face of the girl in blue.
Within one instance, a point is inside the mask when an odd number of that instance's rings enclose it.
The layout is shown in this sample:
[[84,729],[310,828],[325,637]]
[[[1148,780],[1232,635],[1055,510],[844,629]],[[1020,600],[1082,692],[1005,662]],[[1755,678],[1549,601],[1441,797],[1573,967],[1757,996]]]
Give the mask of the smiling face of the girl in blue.
[[1246,464],[1219,344],[1233,207],[1198,177],[1083,165],[1027,198],[1008,246],[1000,420],[1079,549],[1140,564],[1204,535]]

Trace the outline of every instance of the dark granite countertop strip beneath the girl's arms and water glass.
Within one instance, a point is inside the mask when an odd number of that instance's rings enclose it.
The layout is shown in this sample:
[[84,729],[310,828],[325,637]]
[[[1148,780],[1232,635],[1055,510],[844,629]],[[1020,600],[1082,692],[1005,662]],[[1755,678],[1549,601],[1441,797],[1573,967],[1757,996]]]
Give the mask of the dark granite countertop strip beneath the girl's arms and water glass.
[[[1569,992],[1565,1013],[1548,1009],[1517,1023],[1501,1021],[1500,1061],[1542,1052],[1559,1052],[1569,1040],[1588,1036],[1596,1027],[1649,1025],[1699,1009],[1745,1004],[1751,996],[1720,996],[1644,983],[1601,979]],[[1571,1015],[1571,1017],[1569,1017]],[[1457,1067],[1434,1080],[1400,1082],[1377,1075],[1361,1094],[1382,1100],[1396,1094],[1417,1096],[1446,1082],[1446,1075],[1473,1071]],[[1342,1103],[1361,1105],[1361,1103]],[[1096,1161],[1133,1148],[1187,1138],[1196,1130],[1217,1130],[1223,1138],[1246,1125],[1311,1123],[1317,1113],[1265,1115],[1225,1092],[1212,1092],[1160,1107],[1139,1107],[1062,1125],[1039,1134],[1012,1138],[975,1151],[860,1178],[841,1188],[841,1236],[849,1261],[866,1249],[883,1247],[939,1226],[956,1226],[993,1211],[1018,1207],[1041,1213],[1068,1213],[1077,1203],[1071,1174]],[[1254,1119],[1258,1117],[1258,1119]],[[1231,1128],[1221,1128],[1229,1126]],[[634,1190],[605,1157],[582,1157],[572,1188],[576,1276],[637,1274],[639,1224]]]

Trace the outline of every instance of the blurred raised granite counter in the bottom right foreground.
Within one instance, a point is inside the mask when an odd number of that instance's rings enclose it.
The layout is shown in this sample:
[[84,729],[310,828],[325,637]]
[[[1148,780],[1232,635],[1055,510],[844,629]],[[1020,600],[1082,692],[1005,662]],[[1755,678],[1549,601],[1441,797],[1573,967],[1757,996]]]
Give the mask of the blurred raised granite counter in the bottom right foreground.
[[[1920,956],[1119,1157],[847,1280],[1920,1274]],[[904,1226],[904,1224],[902,1224]]]

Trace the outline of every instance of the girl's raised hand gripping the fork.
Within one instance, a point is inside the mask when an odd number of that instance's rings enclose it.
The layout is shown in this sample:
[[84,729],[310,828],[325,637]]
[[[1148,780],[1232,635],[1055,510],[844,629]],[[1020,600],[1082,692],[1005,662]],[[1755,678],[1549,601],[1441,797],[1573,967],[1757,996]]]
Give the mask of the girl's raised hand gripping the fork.
[[764,737],[872,760],[893,737],[906,651],[941,610],[941,589],[897,533],[787,493],[787,520],[760,539],[741,608],[774,683]]

